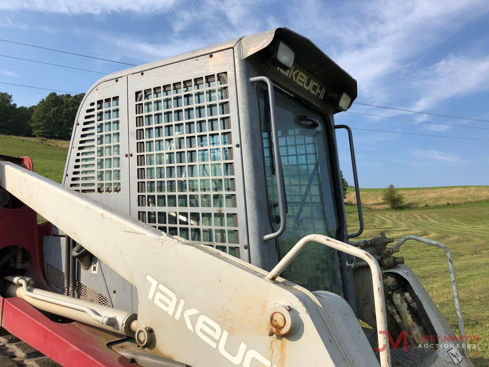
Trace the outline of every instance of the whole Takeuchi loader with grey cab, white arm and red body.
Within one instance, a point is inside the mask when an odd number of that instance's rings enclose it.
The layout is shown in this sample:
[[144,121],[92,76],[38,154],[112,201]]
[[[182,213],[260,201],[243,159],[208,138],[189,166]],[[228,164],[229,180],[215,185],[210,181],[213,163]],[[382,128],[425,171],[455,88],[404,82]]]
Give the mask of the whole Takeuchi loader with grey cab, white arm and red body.
[[[21,366],[472,366],[446,246],[353,242],[333,115],[356,94],[287,28],[97,81],[61,185],[1,157],[0,349]],[[393,256],[407,240],[444,250],[458,333]]]

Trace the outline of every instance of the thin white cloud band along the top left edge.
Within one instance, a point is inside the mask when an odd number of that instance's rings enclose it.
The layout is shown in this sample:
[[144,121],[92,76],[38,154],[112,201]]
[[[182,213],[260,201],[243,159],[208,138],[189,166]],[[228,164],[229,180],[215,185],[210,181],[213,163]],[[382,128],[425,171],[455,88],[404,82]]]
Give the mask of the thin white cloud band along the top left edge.
[[0,10],[29,10],[60,14],[104,14],[130,11],[138,13],[164,13],[175,0],[16,0],[0,2]]

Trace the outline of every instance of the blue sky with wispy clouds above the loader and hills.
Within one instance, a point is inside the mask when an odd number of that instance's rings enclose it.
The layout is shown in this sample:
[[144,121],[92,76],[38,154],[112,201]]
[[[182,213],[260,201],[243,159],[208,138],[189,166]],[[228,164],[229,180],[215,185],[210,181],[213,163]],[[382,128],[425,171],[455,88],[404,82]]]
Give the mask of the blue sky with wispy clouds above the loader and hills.
[[[489,120],[489,2],[149,1],[0,2],[0,38],[143,64],[286,26],[358,81],[357,102]],[[0,54],[111,73],[126,66],[0,42]],[[102,74],[0,56],[0,81],[86,92]],[[48,91],[0,84],[18,105]],[[350,112],[489,128],[488,122],[354,105]],[[489,130],[340,113],[352,128],[487,138]],[[361,187],[487,185],[489,141],[354,130]],[[346,134],[340,164],[353,183]]]

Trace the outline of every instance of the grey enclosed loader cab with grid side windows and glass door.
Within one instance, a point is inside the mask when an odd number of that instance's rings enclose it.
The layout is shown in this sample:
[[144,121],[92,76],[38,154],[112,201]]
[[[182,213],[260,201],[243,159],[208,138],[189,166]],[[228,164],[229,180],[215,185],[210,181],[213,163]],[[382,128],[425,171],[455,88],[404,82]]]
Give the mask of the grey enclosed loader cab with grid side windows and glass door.
[[[257,76],[271,90],[251,82]],[[82,101],[63,184],[271,270],[305,235],[348,241],[333,115],[355,98],[355,79],[286,28],[123,70]],[[54,252],[45,250],[45,266],[62,272]],[[283,276],[355,309],[348,261],[311,245]],[[80,284],[135,311],[135,288],[97,259],[92,265],[100,271],[80,268]]]

